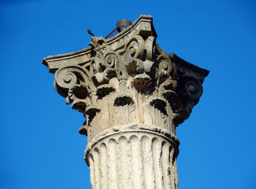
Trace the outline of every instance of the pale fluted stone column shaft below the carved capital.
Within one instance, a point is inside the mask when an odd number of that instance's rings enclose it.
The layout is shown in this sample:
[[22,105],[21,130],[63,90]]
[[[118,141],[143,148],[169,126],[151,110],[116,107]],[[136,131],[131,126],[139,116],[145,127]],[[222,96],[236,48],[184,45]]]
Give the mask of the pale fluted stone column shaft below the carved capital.
[[178,139],[143,124],[116,126],[95,136],[85,152],[92,188],[177,188]]

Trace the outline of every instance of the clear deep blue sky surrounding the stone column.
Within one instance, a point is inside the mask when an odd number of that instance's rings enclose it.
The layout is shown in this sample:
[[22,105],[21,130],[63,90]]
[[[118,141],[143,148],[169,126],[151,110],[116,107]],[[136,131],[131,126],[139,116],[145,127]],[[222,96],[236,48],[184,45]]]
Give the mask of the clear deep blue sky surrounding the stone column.
[[256,188],[256,3],[236,0],[1,0],[0,188],[90,188],[83,115],[56,93],[42,58],[139,15],[154,16],[167,53],[211,71],[176,129],[179,189]]

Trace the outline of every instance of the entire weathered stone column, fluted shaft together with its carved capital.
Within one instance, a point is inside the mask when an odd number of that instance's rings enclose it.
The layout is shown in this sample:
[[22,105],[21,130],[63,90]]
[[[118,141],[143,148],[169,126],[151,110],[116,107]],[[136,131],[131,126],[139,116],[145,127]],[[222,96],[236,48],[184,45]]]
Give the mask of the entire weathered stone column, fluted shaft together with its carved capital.
[[92,188],[177,188],[176,127],[199,101],[208,71],[165,53],[151,16],[118,31],[43,63],[58,93],[86,117],[79,132],[88,140]]

